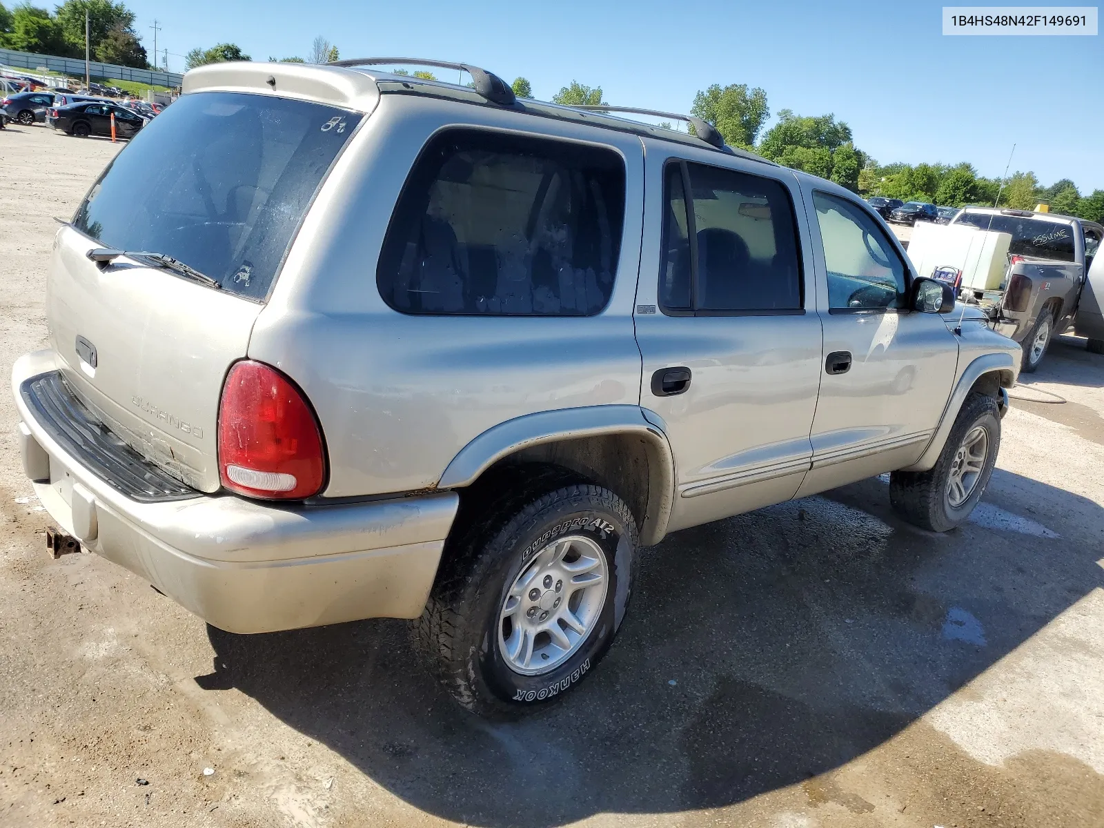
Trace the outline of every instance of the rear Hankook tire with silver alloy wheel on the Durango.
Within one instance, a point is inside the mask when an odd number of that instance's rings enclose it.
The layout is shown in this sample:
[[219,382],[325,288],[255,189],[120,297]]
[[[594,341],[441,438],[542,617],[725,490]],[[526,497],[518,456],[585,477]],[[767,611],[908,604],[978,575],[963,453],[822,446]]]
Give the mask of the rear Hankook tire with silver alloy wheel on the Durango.
[[[414,625],[415,647],[431,671],[479,715],[513,718],[558,700],[597,666],[625,617],[638,544],[633,514],[608,489],[564,480],[562,471],[544,469],[497,487],[506,493],[493,502],[470,492],[469,500],[484,506],[457,518],[456,542],[446,546]],[[561,550],[566,555],[550,563]],[[586,585],[570,591],[569,578]],[[581,631],[561,620],[567,609]],[[555,647],[548,631],[534,635],[542,623],[554,625],[569,646]],[[526,655],[530,672],[522,671]]]

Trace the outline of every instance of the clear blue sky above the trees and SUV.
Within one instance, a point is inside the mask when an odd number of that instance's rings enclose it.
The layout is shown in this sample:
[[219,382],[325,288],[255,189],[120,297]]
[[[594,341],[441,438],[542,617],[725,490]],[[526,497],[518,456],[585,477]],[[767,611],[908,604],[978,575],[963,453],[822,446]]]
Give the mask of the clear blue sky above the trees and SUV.
[[965,160],[997,177],[1015,141],[1011,171],[1104,188],[1104,36],[943,36],[932,0],[125,1],[148,50],[160,21],[174,71],[193,46],[305,56],[321,34],[342,57],[524,75],[543,99],[577,79],[613,104],[684,113],[698,89],[743,83],[766,91],[772,114],[834,113],[883,163]]

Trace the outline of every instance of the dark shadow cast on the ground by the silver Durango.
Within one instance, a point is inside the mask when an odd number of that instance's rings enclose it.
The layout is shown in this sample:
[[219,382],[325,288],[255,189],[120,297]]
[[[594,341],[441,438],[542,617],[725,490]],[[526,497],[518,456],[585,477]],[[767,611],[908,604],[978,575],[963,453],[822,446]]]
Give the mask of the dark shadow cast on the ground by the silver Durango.
[[[985,519],[946,535],[902,523],[888,500],[872,478],[647,550],[606,660],[520,721],[453,703],[403,622],[209,627],[214,671],[197,681],[240,689],[455,821],[731,805],[875,747],[1104,585],[1104,510],[1085,498],[998,470]],[[1068,522],[1017,522],[1029,507]]]

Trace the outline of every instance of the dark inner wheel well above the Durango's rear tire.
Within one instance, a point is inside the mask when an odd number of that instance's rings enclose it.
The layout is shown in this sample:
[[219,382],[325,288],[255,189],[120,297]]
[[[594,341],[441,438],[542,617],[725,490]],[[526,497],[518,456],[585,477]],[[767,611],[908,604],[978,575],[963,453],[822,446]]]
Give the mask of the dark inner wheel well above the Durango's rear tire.
[[662,538],[673,492],[673,469],[665,461],[658,442],[639,434],[602,434],[522,448],[488,467],[469,487],[457,489],[461,502],[465,493],[478,491],[485,479],[523,464],[556,466],[609,489],[633,512],[643,543],[650,545]]

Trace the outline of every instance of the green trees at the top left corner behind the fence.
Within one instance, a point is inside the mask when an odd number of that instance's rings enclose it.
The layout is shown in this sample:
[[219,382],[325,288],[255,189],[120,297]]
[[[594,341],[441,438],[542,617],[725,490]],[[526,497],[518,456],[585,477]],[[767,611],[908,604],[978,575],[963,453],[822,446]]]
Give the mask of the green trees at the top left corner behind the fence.
[[65,0],[51,12],[30,3],[0,3],[0,46],[21,52],[84,57],[84,21],[93,60],[146,68],[146,49],[135,32],[135,14],[112,0]]

